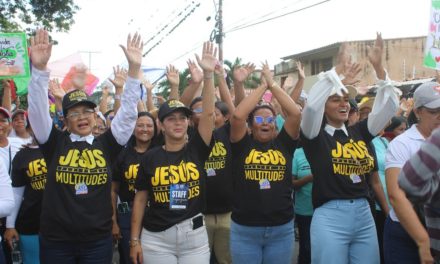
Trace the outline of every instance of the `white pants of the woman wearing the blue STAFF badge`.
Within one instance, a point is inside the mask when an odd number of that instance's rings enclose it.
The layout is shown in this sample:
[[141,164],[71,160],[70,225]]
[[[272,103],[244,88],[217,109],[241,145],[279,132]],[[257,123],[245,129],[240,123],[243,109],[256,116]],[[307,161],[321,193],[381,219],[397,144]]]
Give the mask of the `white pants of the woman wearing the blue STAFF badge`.
[[144,263],[152,264],[208,264],[210,253],[208,234],[203,224],[193,230],[192,218],[165,231],[141,235]]

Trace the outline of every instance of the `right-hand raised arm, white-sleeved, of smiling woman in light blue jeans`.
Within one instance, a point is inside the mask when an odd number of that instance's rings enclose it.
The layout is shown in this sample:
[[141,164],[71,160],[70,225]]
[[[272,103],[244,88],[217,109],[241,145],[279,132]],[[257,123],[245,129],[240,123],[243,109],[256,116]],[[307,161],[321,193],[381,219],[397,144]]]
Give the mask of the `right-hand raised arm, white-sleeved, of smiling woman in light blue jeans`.
[[368,115],[368,130],[372,135],[377,135],[387,125],[399,107],[399,99],[394,92],[394,86],[391,85],[391,81],[382,66],[383,46],[382,36],[377,33],[374,46],[368,47],[368,59],[379,79],[373,109]]

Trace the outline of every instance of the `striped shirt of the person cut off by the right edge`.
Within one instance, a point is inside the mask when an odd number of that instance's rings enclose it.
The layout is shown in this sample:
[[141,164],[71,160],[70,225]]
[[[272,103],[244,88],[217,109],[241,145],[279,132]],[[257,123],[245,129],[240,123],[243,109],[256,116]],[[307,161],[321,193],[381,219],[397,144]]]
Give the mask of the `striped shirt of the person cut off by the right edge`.
[[431,249],[440,256],[440,128],[403,166],[399,185],[412,201],[425,204],[426,228]]

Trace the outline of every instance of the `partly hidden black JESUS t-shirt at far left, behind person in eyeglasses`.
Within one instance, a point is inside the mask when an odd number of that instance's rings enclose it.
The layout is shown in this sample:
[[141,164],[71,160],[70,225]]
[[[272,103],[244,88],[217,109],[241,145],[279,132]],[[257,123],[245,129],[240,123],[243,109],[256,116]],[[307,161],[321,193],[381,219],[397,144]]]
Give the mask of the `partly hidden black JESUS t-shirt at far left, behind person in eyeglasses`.
[[23,200],[15,221],[15,229],[20,234],[35,235],[40,230],[46,174],[46,162],[39,148],[23,148],[12,161],[12,186],[24,187]]

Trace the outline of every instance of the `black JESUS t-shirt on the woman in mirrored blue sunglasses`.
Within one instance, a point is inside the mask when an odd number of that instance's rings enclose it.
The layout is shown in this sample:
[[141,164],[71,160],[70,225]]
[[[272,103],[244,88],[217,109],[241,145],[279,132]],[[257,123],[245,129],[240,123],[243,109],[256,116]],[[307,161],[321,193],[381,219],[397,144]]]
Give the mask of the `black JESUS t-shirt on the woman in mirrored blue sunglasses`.
[[232,220],[247,226],[276,226],[293,219],[292,156],[297,140],[281,129],[261,143],[246,134],[232,143]]

